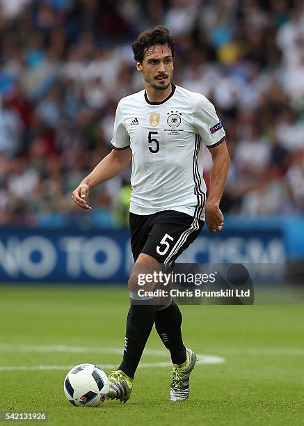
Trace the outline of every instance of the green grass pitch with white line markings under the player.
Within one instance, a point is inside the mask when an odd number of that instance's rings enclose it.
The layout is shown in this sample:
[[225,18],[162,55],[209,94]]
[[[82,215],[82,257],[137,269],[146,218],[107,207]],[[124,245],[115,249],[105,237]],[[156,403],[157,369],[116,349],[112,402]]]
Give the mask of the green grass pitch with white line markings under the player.
[[153,364],[170,359],[153,330],[129,402],[95,408],[67,402],[65,366],[120,363],[126,289],[2,286],[0,295],[0,411],[46,411],[52,425],[304,425],[303,305],[182,306],[185,344],[225,362],[196,365],[189,400],[169,402],[170,368]]

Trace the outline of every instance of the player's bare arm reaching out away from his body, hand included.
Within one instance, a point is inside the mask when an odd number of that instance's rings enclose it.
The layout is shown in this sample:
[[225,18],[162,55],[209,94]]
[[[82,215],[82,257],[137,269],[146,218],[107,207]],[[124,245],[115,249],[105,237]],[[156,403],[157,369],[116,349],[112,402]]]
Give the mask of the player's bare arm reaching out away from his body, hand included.
[[79,207],[90,211],[92,207],[86,202],[90,189],[97,187],[97,185],[106,182],[106,180],[113,178],[123,171],[128,166],[131,156],[132,152],[130,148],[112,150],[73,191],[72,200]]

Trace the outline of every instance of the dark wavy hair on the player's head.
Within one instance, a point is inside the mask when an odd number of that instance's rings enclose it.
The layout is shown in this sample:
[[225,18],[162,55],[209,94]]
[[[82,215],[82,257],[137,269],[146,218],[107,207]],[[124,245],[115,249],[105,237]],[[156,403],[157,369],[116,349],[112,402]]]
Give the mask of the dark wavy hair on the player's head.
[[145,52],[155,45],[168,46],[174,58],[174,39],[166,26],[157,25],[154,28],[146,29],[137,36],[132,45],[135,61],[143,63]]

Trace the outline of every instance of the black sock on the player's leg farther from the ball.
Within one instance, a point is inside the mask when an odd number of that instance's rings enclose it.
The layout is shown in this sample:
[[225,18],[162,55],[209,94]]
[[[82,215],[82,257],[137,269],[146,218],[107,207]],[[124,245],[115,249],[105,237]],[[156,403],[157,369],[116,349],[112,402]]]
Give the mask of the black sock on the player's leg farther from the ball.
[[168,308],[155,311],[154,322],[163,345],[170,351],[173,364],[183,364],[186,348],[182,340],[182,313],[174,300]]

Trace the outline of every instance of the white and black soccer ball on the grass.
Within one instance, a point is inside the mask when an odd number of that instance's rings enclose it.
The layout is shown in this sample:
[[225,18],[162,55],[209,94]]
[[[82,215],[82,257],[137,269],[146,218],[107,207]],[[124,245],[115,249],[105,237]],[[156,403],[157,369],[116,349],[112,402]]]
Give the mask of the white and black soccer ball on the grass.
[[97,407],[106,400],[109,381],[98,365],[79,364],[67,373],[63,390],[72,405]]

